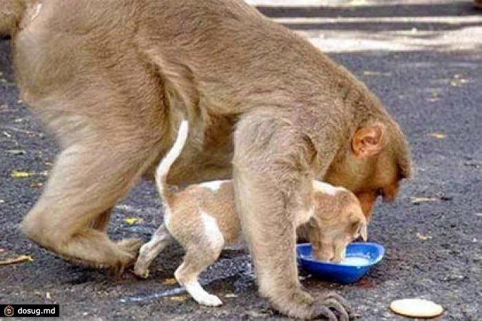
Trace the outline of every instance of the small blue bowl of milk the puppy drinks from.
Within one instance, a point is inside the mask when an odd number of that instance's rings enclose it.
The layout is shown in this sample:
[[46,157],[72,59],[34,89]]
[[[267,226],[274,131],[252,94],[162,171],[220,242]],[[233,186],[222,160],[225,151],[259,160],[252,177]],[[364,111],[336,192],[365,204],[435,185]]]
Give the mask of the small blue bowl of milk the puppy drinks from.
[[[311,255],[311,244],[297,245],[298,265],[313,276],[342,284],[357,282],[384,257],[385,249],[375,243],[351,243],[342,263],[321,262]],[[358,262],[357,262],[358,261]]]

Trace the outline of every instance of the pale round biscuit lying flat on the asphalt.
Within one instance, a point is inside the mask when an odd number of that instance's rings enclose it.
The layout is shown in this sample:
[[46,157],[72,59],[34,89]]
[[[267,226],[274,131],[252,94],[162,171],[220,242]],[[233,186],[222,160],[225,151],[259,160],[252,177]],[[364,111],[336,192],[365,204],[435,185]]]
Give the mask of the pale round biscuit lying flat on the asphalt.
[[393,312],[411,318],[434,318],[443,313],[443,307],[422,299],[395,300],[390,304]]

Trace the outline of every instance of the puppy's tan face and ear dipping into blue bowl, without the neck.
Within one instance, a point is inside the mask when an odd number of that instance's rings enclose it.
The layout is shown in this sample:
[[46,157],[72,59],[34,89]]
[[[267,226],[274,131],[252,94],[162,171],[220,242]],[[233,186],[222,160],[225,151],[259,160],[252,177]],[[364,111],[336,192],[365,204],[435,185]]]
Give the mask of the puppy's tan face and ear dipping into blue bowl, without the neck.
[[359,203],[351,203],[333,215],[317,211],[308,222],[313,257],[324,262],[341,262],[346,246],[359,237],[368,239],[366,218]]

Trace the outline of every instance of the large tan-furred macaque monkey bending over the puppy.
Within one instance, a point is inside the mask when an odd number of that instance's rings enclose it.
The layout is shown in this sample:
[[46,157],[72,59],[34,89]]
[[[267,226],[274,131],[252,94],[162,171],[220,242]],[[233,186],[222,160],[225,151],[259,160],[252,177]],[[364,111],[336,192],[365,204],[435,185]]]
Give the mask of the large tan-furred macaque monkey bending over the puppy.
[[348,319],[340,296],[300,284],[295,218],[313,179],[353,191],[369,217],[410,176],[404,134],[363,83],[242,0],[0,4],[21,99],[61,147],[28,238],[122,271],[141,242],[109,239],[110,210],[187,118],[169,183],[232,178],[260,294],[293,318]]

